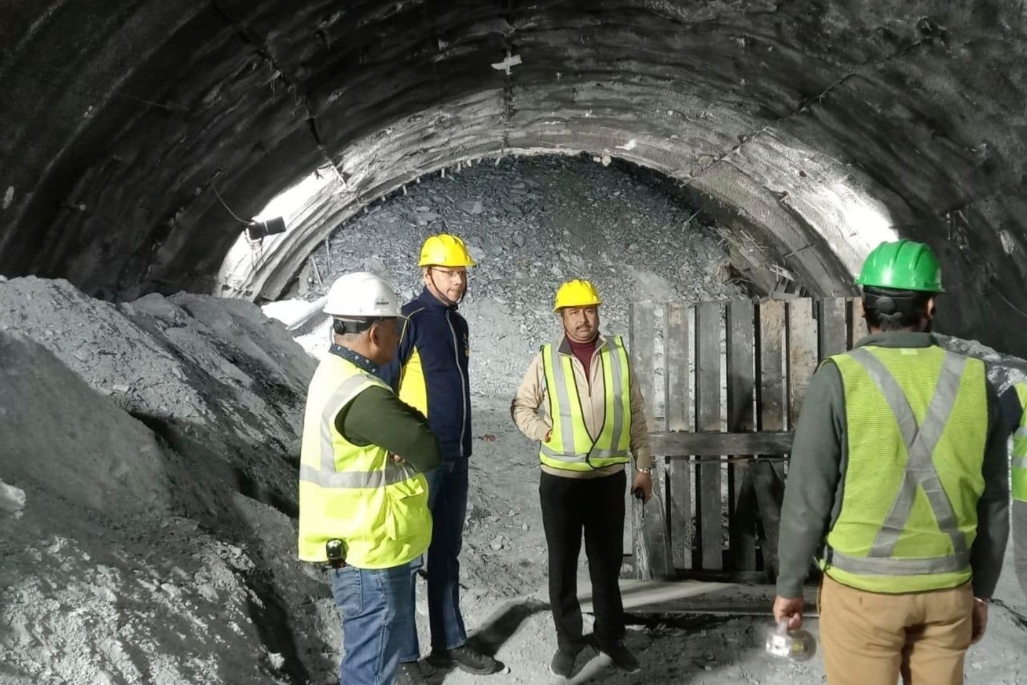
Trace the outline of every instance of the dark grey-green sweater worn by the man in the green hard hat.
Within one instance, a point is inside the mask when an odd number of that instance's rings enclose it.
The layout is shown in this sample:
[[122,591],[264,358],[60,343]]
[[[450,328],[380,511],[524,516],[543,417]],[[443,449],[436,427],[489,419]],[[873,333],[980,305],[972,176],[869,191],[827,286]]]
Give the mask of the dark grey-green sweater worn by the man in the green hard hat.
[[[861,340],[857,347],[929,347],[927,333],[881,333]],[[990,598],[1002,569],[1009,538],[1009,453],[999,416],[998,397],[988,383],[988,437],[984,457],[984,493],[978,502],[977,538],[971,550],[974,595]],[[882,407],[882,411],[888,411]],[[841,375],[831,363],[809,381],[795,430],[788,484],[781,516],[777,555],[777,595],[802,596],[802,584],[814,555],[841,510],[841,494],[848,463],[845,397]]]

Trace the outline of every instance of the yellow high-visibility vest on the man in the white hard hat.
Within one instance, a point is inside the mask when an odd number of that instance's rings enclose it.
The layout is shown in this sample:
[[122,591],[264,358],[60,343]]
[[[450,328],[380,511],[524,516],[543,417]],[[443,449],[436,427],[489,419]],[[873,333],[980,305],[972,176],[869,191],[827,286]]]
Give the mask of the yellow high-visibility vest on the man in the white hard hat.
[[359,447],[335,419],[360,392],[391,390],[377,377],[329,354],[310,381],[300,453],[299,557],[325,562],[325,543],[346,545],[346,563],[391,568],[424,553],[431,540],[428,484],[377,445]]

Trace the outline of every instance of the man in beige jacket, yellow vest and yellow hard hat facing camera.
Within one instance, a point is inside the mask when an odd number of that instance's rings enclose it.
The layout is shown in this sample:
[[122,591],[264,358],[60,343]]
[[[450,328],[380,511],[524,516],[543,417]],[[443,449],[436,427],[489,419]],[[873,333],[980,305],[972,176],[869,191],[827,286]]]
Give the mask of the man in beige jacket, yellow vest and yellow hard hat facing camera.
[[[518,388],[510,414],[541,443],[539,497],[549,553],[549,601],[558,650],[549,665],[569,678],[584,647],[577,565],[584,532],[596,609],[595,641],[614,665],[636,673],[624,646],[624,610],[617,578],[623,557],[624,464],[635,456],[632,485],[652,496],[652,451],[645,403],[620,338],[599,333],[596,289],[586,280],[560,287],[555,311],[564,336],[543,345]],[[544,415],[539,409],[545,407]]]

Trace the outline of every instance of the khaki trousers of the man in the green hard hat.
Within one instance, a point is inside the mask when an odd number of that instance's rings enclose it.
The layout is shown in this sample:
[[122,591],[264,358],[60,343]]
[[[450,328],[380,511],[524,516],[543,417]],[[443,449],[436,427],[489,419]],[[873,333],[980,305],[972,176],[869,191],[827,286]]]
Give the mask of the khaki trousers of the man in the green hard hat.
[[881,595],[825,576],[817,597],[828,685],[962,685],[973,629],[969,583]]

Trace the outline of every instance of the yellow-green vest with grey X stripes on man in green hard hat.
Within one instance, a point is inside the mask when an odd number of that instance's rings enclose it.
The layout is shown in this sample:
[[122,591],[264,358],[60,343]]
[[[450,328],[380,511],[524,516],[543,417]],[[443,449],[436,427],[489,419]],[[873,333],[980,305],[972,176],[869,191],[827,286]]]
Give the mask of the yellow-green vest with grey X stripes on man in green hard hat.
[[864,346],[831,359],[848,461],[825,572],[874,593],[966,582],[984,492],[984,363],[937,346]]

